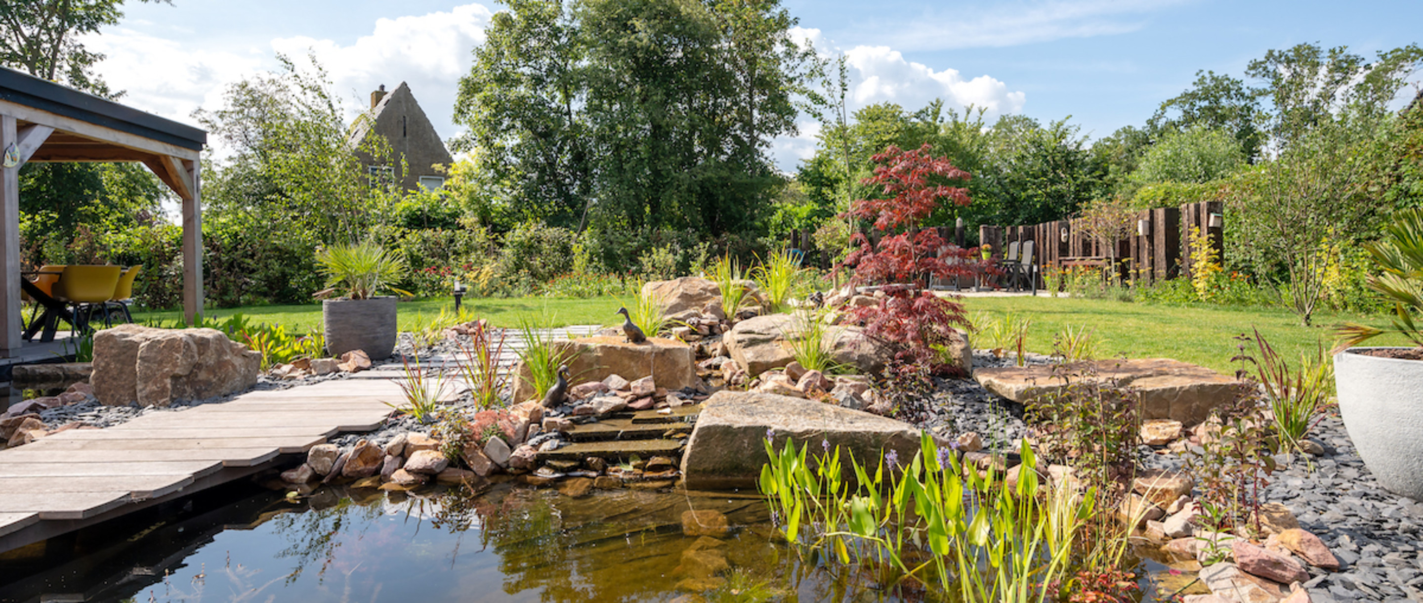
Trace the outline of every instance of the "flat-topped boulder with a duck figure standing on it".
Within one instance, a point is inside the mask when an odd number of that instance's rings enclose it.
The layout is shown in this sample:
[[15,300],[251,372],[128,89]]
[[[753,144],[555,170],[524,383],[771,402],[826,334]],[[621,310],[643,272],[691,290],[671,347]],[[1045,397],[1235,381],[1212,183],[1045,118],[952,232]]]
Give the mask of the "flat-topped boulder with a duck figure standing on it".
[[[575,383],[602,381],[609,375],[635,381],[650,375],[656,387],[669,391],[697,385],[696,353],[677,340],[649,337],[646,343],[626,343],[620,336],[593,336],[556,340],[552,346],[572,356],[568,373]],[[515,374],[514,401],[532,398],[528,367],[519,363]]]

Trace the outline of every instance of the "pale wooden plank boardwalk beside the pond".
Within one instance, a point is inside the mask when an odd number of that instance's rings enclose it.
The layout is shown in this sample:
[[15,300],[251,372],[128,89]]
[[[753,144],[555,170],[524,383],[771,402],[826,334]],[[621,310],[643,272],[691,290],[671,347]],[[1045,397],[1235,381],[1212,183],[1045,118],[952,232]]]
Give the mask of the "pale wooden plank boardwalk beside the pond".
[[[593,330],[555,329],[549,336]],[[524,347],[517,331],[508,333],[499,358],[505,367]],[[453,371],[458,360],[437,356],[421,364]],[[400,363],[386,363],[343,380],[250,391],[0,449],[0,552],[249,476],[339,432],[376,429],[390,404],[404,400],[396,381],[404,377]],[[454,388],[444,397],[453,400]]]

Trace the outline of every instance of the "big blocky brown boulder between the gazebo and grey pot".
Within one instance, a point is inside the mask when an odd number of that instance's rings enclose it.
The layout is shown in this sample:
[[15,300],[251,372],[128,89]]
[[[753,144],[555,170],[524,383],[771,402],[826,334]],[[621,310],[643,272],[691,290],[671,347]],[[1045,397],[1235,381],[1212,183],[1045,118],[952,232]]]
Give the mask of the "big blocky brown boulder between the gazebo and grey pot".
[[94,395],[107,405],[166,407],[249,390],[262,354],[216,329],[121,324],[94,334]]

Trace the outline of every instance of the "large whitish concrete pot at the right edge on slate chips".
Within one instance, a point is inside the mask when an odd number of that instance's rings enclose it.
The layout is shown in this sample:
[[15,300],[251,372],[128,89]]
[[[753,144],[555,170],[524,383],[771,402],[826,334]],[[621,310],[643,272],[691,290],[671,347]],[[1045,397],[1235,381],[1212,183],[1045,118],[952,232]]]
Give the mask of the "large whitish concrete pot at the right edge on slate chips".
[[1423,501],[1423,361],[1335,354],[1339,414],[1363,464],[1390,492]]

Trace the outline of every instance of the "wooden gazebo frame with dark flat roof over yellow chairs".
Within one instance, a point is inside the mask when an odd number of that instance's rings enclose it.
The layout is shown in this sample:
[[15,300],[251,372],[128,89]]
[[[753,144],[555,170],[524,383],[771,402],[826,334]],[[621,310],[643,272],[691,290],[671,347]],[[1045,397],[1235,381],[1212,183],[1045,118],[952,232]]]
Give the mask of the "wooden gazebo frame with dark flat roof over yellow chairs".
[[152,169],[182,199],[182,306],[192,321],[202,313],[198,159],[206,142],[191,125],[0,67],[0,358],[21,346],[20,166],[137,161]]

